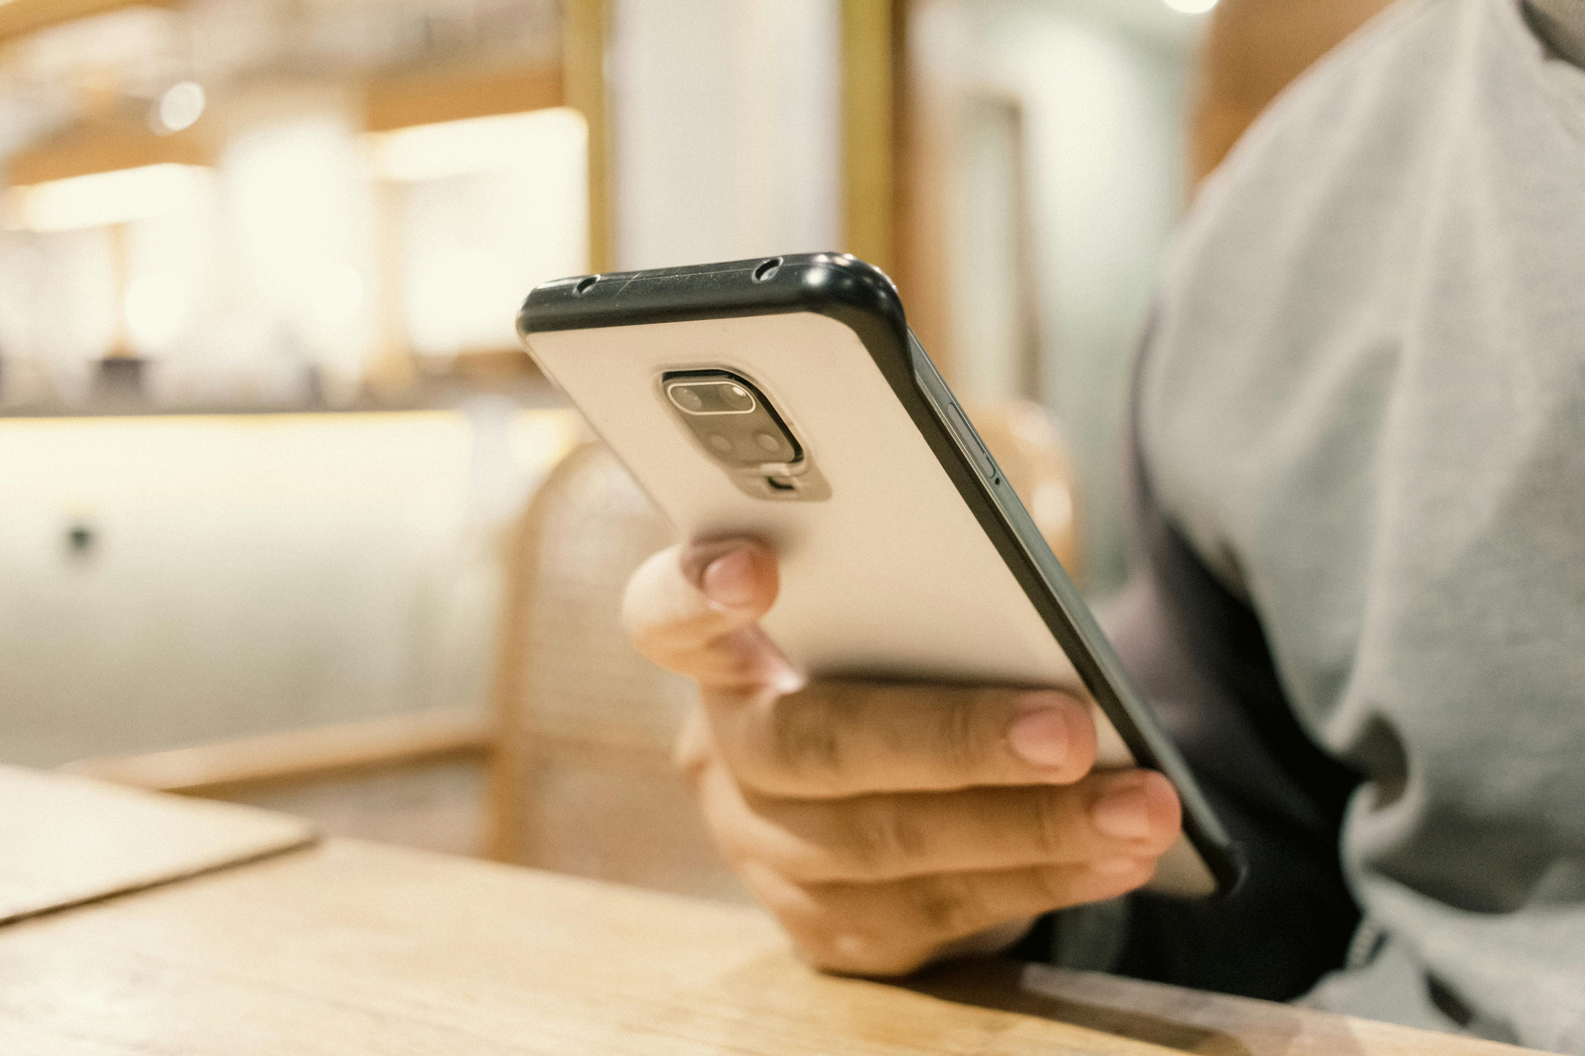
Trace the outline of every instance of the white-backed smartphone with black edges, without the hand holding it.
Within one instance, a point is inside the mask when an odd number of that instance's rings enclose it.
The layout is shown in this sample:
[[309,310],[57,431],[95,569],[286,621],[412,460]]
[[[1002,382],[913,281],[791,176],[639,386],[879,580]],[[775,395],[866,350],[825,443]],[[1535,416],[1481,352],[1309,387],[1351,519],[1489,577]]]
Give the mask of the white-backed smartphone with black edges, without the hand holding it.
[[1151,888],[1228,893],[1243,857],[908,331],[845,253],[558,279],[518,334],[685,538],[780,560],[764,630],[813,676],[1067,689],[1098,766],[1178,788]]

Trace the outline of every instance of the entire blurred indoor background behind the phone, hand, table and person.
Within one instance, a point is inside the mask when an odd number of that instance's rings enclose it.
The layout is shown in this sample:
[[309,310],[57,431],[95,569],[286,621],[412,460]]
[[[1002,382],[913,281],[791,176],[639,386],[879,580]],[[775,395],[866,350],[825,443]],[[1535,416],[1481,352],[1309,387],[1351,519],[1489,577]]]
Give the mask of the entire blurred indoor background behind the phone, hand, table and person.
[[1368,6],[1213,5],[0,0],[0,763],[734,895],[518,302],[878,264],[1105,598],[1162,250]]

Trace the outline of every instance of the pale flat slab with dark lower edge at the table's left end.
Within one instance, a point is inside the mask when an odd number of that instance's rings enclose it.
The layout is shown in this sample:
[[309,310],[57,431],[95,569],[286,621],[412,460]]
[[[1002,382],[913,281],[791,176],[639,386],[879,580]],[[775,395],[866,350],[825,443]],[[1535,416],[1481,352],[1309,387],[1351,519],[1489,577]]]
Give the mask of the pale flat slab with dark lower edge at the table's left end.
[[312,839],[284,814],[0,766],[0,925]]

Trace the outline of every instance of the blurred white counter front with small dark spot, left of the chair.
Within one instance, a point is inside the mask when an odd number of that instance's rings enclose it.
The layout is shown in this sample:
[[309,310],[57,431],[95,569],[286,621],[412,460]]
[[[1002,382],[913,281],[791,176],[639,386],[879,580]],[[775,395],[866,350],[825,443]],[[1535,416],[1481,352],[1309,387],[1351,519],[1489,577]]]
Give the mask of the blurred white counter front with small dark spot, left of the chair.
[[0,762],[482,708],[498,532],[575,427],[490,397],[0,420]]

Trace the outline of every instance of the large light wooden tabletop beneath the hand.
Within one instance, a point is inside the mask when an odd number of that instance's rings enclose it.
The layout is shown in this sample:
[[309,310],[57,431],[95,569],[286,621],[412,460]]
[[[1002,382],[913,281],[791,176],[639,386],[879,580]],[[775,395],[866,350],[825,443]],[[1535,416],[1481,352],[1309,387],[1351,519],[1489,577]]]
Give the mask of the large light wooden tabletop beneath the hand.
[[[0,855],[5,850],[0,849]],[[1000,961],[819,975],[761,914],[327,841],[0,928],[3,1053],[1496,1056]]]

